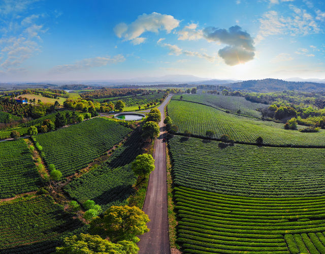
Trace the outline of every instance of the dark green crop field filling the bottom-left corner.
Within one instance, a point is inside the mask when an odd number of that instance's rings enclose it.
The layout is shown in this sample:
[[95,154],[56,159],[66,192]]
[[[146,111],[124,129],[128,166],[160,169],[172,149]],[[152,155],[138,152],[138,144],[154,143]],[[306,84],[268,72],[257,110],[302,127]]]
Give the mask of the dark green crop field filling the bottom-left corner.
[[60,237],[82,226],[49,196],[0,203],[0,221],[1,253],[49,253]]

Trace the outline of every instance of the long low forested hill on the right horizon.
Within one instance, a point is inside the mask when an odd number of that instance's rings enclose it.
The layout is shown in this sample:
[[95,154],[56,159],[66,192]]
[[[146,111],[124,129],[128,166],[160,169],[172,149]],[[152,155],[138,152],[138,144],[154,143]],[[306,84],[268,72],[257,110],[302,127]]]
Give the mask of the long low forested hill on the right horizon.
[[233,90],[247,90],[252,92],[275,92],[283,90],[325,91],[325,83],[292,82],[282,79],[247,80],[227,84]]

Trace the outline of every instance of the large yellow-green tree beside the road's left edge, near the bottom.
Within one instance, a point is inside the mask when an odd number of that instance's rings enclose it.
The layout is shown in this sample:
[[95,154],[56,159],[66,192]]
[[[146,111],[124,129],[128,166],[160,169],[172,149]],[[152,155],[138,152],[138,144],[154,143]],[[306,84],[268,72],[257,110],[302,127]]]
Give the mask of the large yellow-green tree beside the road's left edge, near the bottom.
[[111,206],[103,215],[90,223],[90,233],[109,237],[111,241],[121,240],[138,242],[137,235],[149,232],[147,214],[136,206]]

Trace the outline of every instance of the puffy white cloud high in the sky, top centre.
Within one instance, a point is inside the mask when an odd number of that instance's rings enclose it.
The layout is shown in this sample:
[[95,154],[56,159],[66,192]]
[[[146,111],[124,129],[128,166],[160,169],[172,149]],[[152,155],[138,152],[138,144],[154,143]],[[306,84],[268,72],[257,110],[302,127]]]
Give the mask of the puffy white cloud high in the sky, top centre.
[[142,14],[131,24],[119,23],[114,27],[114,32],[118,38],[125,41],[132,41],[133,44],[141,44],[146,38],[141,37],[146,31],[158,33],[159,30],[166,30],[170,33],[179,25],[179,20],[171,15],[153,12]]

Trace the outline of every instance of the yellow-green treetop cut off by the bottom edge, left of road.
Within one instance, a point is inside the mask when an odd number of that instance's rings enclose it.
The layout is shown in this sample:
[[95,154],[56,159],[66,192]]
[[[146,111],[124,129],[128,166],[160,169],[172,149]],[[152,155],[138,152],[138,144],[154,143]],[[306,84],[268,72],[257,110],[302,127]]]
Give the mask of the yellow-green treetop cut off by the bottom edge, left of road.
[[139,247],[131,241],[119,241],[112,243],[99,235],[80,234],[68,236],[63,239],[63,246],[56,247],[56,254],[95,254],[95,253],[119,253],[137,254]]

